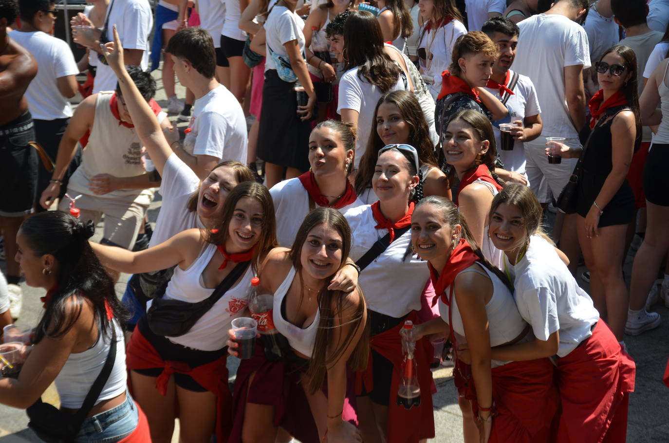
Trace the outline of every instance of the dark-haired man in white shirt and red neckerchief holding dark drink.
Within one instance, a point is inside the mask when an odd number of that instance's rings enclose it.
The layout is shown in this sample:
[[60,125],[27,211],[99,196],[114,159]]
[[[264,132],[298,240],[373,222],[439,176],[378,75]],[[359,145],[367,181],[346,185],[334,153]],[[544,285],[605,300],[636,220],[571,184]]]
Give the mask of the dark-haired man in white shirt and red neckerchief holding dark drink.
[[[499,57],[492,66],[492,76],[486,89],[508,109],[505,118],[492,122],[497,152],[502,158],[504,169],[527,179],[524,143],[537,139],[541,135],[543,124],[535,85],[529,77],[516,74],[510,69],[516,58],[520,29],[506,17],[492,17],[483,24],[482,31],[500,48]],[[509,94],[508,90],[513,94]],[[501,143],[499,125],[502,123],[514,124],[510,131],[514,136],[511,151],[505,151]]]

